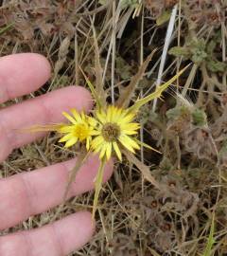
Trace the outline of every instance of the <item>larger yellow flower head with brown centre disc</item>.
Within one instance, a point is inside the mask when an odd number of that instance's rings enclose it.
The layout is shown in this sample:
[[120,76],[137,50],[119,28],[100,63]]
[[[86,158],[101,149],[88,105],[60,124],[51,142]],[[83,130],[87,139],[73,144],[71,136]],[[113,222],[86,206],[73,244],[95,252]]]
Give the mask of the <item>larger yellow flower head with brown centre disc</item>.
[[110,159],[113,149],[119,160],[122,160],[120,147],[123,146],[132,153],[140,148],[137,141],[131,137],[137,135],[139,123],[132,122],[135,113],[114,105],[107,110],[96,111],[96,137],[91,142],[91,148],[101,159]]

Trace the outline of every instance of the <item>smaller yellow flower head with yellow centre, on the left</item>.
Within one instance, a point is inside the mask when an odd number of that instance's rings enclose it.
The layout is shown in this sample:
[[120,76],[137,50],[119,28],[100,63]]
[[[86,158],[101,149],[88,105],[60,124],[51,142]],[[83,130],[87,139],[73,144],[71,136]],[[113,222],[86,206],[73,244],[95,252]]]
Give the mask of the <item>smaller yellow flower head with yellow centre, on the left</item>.
[[96,135],[96,119],[85,115],[83,112],[79,114],[76,109],[72,109],[71,112],[73,116],[65,112],[62,113],[71,124],[62,124],[61,128],[58,129],[59,133],[66,134],[59,141],[65,142],[64,147],[68,148],[78,141],[86,140],[86,149],[88,151],[92,136]]

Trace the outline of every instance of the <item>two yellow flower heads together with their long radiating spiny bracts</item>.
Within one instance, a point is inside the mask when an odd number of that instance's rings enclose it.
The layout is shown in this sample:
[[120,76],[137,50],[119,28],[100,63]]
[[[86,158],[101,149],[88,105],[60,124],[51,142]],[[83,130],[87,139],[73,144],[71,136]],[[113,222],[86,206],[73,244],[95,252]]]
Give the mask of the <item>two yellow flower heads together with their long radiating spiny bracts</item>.
[[[143,76],[144,72],[141,72],[141,70],[145,70],[147,64],[144,64],[138,71],[138,73],[142,74],[139,76],[137,73],[132,80],[137,76],[138,81]],[[46,124],[43,126],[36,125],[29,128],[29,131],[31,132],[54,131],[61,134],[61,139],[59,141],[64,142],[65,148],[72,147],[76,143],[79,143],[81,146],[81,152],[76,166],[69,176],[63,201],[66,199],[69,188],[74,181],[80,166],[86,161],[90,154],[98,154],[100,165],[95,179],[95,197],[93,203],[93,217],[95,217],[98,195],[101,191],[104,167],[107,161],[112,156],[116,156],[119,161],[122,161],[122,155],[125,155],[128,159],[130,158],[130,161],[134,161],[133,163],[138,167],[139,160],[135,156],[131,158],[131,155],[134,155],[136,150],[140,149],[141,145],[150,150],[157,151],[148,144],[137,139],[140,123],[135,120],[136,116],[140,108],[148,103],[148,101],[157,98],[161,99],[163,91],[182,75],[186,67],[168,82],[156,87],[153,93],[145,98],[135,101],[130,107],[128,107],[127,104],[129,104],[131,99],[127,99],[127,97],[121,102],[116,101],[115,104],[108,104],[106,99],[102,99],[102,97],[98,95],[95,86],[80,69],[94,97],[96,103],[94,111],[90,114],[85,114],[84,112],[79,113],[76,109],[72,109],[70,114],[65,112],[62,113],[62,115],[69,121],[67,123]],[[132,84],[131,87],[135,88],[135,85]],[[134,88],[131,89],[131,91],[134,91]],[[148,180],[150,182],[153,180],[153,183],[155,183],[153,178],[148,178]]]

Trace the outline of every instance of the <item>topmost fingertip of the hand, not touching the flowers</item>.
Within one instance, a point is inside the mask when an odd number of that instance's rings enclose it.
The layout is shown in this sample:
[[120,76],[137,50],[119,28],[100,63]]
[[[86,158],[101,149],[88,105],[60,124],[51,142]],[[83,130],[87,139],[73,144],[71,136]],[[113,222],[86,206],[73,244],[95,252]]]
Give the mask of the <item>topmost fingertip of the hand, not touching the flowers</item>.
[[50,77],[50,64],[37,53],[0,58],[0,103],[37,90]]

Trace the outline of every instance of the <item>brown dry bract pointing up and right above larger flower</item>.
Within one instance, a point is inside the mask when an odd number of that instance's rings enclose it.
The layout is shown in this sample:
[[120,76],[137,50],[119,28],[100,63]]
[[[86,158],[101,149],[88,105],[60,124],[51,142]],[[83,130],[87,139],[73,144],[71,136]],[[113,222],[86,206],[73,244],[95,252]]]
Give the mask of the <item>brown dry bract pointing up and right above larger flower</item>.
[[140,66],[139,71],[135,76],[132,77],[130,84],[124,89],[123,93],[120,94],[118,101],[116,101],[116,105],[119,107],[128,107],[132,98],[132,95],[140,82],[143,78],[146,68],[148,67],[148,63],[150,62],[151,58],[153,57],[156,49],[153,50],[149,55],[146,61]]

